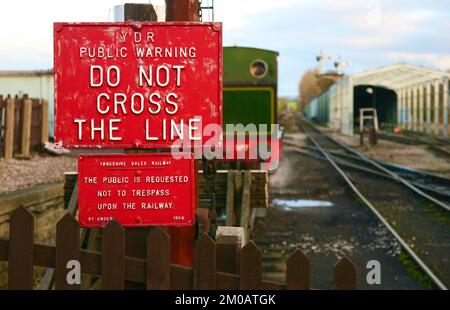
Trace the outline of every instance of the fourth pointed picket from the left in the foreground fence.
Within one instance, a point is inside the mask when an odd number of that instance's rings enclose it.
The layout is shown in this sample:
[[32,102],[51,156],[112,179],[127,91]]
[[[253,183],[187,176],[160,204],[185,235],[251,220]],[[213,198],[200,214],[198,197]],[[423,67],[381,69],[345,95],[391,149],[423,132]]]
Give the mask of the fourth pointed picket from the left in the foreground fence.
[[147,289],[170,289],[170,236],[161,227],[147,238]]

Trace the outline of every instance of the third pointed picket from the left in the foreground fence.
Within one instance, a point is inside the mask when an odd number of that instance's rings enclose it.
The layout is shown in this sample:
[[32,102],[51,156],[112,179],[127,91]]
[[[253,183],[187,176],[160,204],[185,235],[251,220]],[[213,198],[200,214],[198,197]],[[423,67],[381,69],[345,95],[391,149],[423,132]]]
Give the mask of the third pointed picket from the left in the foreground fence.
[[116,220],[103,229],[101,281],[104,290],[125,287],[125,231]]

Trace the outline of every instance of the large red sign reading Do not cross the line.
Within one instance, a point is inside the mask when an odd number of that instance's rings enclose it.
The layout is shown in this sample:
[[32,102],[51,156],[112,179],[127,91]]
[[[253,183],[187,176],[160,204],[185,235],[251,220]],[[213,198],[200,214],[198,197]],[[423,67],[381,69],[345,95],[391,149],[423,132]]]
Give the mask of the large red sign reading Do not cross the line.
[[221,23],[55,23],[54,75],[57,146],[219,143]]

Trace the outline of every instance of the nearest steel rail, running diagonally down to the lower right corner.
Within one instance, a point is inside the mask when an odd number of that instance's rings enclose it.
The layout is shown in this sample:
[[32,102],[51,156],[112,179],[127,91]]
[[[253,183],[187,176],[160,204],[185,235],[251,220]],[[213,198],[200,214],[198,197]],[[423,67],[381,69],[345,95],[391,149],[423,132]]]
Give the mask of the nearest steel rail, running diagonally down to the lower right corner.
[[[308,133],[304,127],[299,124],[303,129],[303,132],[307,135],[308,139],[316,146],[316,148],[322,153],[322,155],[328,160],[328,162],[333,166],[333,168],[342,176],[345,182],[350,186],[353,192],[365,203],[365,205],[376,215],[376,217],[383,223],[383,225],[389,230],[389,232],[397,239],[405,251],[416,261],[420,268],[430,277],[430,279],[439,287],[441,290],[448,290],[444,283],[431,271],[430,268],[420,259],[420,257],[411,249],[411,247],[403,240],[403,238],[395,231],[395,229],[389,224],[389,222],[381,215],[380,212],[370,203],[370,201],[358,190],[358,188],[353,184],[350,178],[345,174],[345,172],[336,164],[336,162],[331,158],[330,154],[325,151],[319,143]],[[313,126],[312,126],[313,127]],[[313,127],[314,128],[314,127]],[[322,134],[321,131],[318,131]]]

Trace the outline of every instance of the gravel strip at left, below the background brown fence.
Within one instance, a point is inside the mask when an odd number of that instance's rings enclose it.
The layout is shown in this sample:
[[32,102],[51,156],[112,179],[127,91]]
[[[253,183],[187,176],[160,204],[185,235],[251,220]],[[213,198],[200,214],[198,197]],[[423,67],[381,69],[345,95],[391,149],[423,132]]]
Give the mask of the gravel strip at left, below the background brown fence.
[[70,156],[39,156],[30,160],[0,159],[0,193],[43,183],[62,182],[65,171],[77,170],[77,159]]

